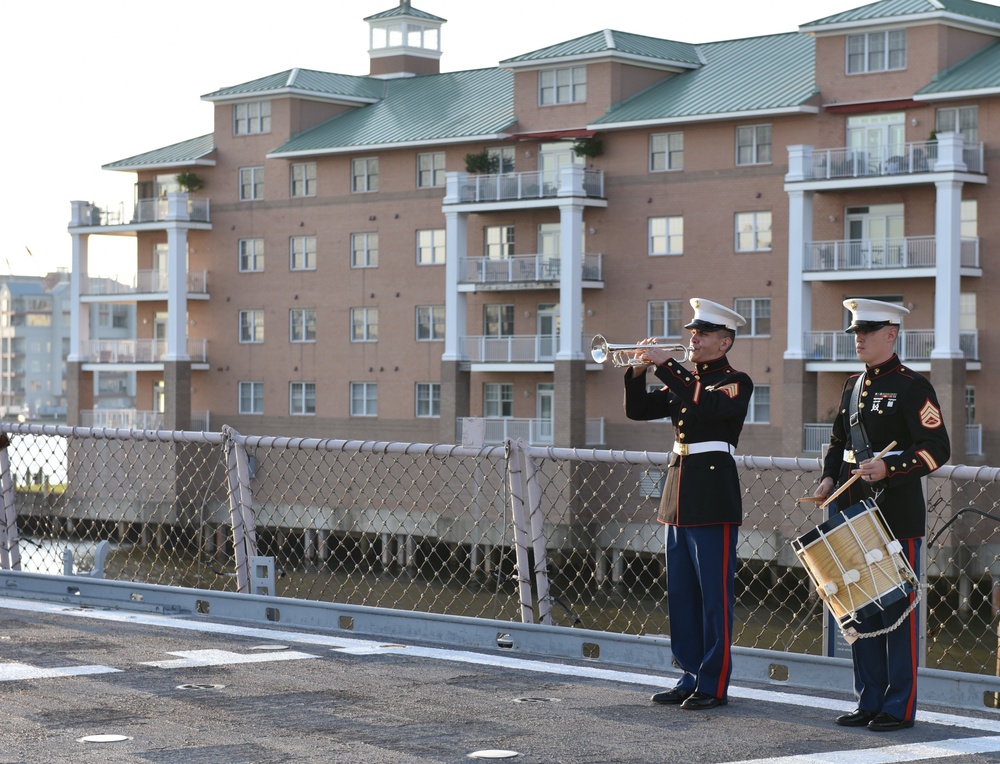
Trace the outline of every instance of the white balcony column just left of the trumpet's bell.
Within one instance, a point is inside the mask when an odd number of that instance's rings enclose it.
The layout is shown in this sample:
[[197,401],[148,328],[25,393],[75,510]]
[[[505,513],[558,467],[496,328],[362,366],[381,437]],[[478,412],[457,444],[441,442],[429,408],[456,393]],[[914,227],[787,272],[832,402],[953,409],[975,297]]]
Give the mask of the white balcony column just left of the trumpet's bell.
[[559,349],[556,360],[583,358],[583,204],[559,205]]

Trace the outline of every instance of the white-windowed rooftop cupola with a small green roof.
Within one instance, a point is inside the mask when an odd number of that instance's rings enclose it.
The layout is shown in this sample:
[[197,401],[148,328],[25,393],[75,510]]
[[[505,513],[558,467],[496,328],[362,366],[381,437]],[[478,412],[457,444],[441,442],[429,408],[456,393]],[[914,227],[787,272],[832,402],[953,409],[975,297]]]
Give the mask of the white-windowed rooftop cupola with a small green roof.
[[372,77],[414,77],[441,71],[441,25],[447,22],[399,0],[399,5],[365,19]]

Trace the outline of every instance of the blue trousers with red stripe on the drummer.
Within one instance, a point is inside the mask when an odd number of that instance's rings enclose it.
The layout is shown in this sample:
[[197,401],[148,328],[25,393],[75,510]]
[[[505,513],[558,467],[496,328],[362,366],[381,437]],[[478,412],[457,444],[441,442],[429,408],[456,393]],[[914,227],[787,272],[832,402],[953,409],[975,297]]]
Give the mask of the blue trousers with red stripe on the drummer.
[[[903,555],[920,577],[920,547],[923,539],[900,539]],[[858,633],[892,626],[906,612],[913,594],[888,605],[856,626]],[[854,624],[851,624],[854,625]],[[858,708],[884,712],[912,721],[917,712],[918,618],[914,610],[899,626],[879,637],[858,639],[851,645],[854,662],[854,694]]]

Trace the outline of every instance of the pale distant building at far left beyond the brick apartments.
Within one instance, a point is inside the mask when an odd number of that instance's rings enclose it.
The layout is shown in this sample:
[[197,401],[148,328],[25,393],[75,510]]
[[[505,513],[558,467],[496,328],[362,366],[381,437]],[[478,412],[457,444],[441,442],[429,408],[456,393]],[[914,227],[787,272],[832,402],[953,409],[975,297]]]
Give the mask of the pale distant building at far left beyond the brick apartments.
[[[0,416],[66,417],[71,312],[68,272],[0,277]],[[86,313],[95,336],[135,335],[133,304],[95,303]],[[95,372],[91,382],[99,405],[134,407],[134,373],[106,369]]]

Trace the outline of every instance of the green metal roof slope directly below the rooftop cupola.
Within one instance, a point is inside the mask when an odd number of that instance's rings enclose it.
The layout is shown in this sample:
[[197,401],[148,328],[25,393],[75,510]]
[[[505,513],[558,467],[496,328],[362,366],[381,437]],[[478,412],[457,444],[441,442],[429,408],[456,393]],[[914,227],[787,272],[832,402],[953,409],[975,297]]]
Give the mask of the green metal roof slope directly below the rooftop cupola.
[[514,75],[473,69],[384,81],[385,98],[299,133],[269,157],[496,135],[514,116]]

